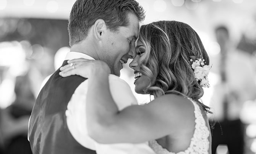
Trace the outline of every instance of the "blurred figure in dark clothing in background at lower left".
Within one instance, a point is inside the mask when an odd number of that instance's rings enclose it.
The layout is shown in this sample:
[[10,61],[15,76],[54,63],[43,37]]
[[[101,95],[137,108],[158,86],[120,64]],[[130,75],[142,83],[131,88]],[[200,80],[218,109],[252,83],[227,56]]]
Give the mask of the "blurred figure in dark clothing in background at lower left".
[[27,140],[28,121],[35,97],[28,73],[17,76],[15,81],[15,101],[2,110],[1,130],[6,154],[32,154]]

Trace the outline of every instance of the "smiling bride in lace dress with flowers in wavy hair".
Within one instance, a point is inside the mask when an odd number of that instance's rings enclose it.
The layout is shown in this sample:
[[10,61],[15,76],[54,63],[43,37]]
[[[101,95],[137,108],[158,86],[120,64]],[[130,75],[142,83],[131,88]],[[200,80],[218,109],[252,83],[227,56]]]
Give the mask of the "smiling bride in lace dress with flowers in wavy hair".
[[[63,77],[88,78],[86,112],[91,137],[99,143],[149,141],[157,154],[211,153],[209,107],[199,102],[202,86],[208,86],[209,57],[198,34],[177,21],[142,25],[136,52],[130,64],[135,91],[155,99],[122,111],[110,94],[110,68],[104,62],[74,59],[61,68]],[[76,69],[71,67],[74,64]]]

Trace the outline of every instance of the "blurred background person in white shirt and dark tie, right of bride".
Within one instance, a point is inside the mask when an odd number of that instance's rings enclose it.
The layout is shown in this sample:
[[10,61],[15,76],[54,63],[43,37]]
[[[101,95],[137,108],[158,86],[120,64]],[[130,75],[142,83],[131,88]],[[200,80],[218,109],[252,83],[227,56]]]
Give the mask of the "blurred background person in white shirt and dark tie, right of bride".
[[243,103],[256,97],[255,65],[252,57],[238,50],[230,39],[229,30],[224,25],[215,28],[220,45],[220,82],[215,85],[211,98],[214,114],[212,129],[212,154],[219,144],[226,144],[230,154],[244,152],[244,124],[240,120]]

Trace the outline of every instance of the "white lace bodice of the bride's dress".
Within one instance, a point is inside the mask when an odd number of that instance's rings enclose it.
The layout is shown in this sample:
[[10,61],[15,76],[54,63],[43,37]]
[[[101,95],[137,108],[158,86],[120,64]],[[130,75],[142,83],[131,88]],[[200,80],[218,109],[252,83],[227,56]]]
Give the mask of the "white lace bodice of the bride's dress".
[[[188,98],[193,102],[194,114],[195,114],[195,130],[194,135],[191,138],[190,146],[185,151],[178,152],[177,154],[208,154],[209,140],[208,137],[210,132],[204,121],[204,117],[201,110],[196,102],[191,98]],[[162,148],[156,140],[149,141],[149,146],[156,152],[156,154],[175,154],[174,152],[169,152],[167,149]]]

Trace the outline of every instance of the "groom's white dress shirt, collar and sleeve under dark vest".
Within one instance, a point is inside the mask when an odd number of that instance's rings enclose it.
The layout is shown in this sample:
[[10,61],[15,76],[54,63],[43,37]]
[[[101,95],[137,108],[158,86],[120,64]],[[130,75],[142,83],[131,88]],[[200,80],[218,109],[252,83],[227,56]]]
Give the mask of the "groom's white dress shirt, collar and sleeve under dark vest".
[[[94,60],[92,57],[80,52],[68,52],[65,60],[85,58]],[[118,109],[138,104],[130,86],[118,76],[109,75],[110,92]],[[81,83],[75,90],[68,103],[66,110],[66,121],[68,129],[78,143],[86,148],[96,150],[97,154],[155,154],[148,146],[148,143],[131,144],[99,144],[96,143],[87,133],[86,126],[86,94],[88,80]],[[99,96],[100,97],[100,96]]]

